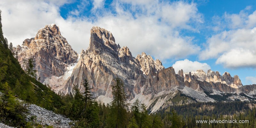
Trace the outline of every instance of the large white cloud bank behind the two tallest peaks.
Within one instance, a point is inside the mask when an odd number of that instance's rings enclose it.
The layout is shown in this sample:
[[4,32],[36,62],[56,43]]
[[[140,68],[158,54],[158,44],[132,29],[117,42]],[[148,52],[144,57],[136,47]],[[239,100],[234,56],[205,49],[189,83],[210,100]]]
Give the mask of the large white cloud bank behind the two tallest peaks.
[[179,33],[182,29],[198,31],[196,25],[203,23],[202,14],[194,3],[114,1],[111,6],[115,13],[111,13],[100,8],[104,7],[104,0],[97,1],[93,5],[101,9],[102,13],[96,14],[96,11],[91,10],[96,20],[77,17],[83,12],[84,6],[70,11],[68,18],[63,19],[60,7],[67,1],[1,2],[4,36],[14,45],[22,44],[24,39],[34,37],[38,29],[55,23],[72,48],[80,52],[89,46],[92,26],[100,26],[113,33],[117,44],[128,46],[133,56],[146,52],[165,60],[183,58],[200,51],[200,47],[193,43],[193,37]]

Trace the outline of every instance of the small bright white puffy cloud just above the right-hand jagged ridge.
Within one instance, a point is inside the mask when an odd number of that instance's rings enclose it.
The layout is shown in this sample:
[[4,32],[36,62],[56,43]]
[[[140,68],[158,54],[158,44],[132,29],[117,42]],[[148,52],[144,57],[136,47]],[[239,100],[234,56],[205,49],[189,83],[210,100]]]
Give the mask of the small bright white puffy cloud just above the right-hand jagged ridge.
[[207,72],[207,70],[211,69],[210,65],[207,63],[190,61],[188,59],[176,61],[172,67],[176,70],[176,72],[180,69],[182,69],[183,72],[196,71],[197,69],[202,69],[204,72]]

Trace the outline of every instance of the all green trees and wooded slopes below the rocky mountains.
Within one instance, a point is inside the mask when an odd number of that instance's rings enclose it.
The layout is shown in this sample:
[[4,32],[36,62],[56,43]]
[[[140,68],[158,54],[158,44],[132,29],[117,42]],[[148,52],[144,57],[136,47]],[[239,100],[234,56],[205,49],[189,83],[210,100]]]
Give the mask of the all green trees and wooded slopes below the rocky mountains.
[[[57,95],[49,86],[38,82],[39,78],[38,81],[35,79],[34,60],[25,60],[26,70],[24,71],[17,61],[17,52],[14,57],[12,49],[12,43],[8,45],[8,40],[3,36],[0,22],[0,92],[4,93],[0,93],[0,122],[13,127],[44,127],[36,121],[36,116],[32,116],[30,121],[25,120],[27,109],[14,97],[18,95],[21,100],[76,120],[73,126],[75,128],[256,128],[256,109],[251,109],[248,105],[255,106],[255,101],[174,105],[168,108],[168,111],[162,110],[149,115],[146,106],[136,100],[129,111],[124,83],[118,77],[115,79],[116,83],[112,85],[111,104],[98,104],[91,94],[91,88],[86,79],[81,84],[84,93],[80,92],[78,85],[74,85],[72,93]],[[212,98],[222,99],[223,97],[212,95]],[[183,94],[171,101],[180,102],[181,100],[195,101]],[[199,119],[245,119],[250,123],[209,125],[196,123]]]

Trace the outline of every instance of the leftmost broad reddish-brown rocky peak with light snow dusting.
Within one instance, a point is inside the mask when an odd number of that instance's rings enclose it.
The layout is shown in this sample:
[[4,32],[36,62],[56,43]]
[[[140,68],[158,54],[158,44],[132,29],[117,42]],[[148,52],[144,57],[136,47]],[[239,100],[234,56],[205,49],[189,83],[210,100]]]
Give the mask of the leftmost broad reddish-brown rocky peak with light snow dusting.
[[41,82],[50,76],[64,75],[68,65],[75,63],[78,58],[55,24],[39,29],[35,38],[25,39],[14,50],[18,52],[18,61],[23,69],[24,59],[35,60],[37,78],[40,77]]

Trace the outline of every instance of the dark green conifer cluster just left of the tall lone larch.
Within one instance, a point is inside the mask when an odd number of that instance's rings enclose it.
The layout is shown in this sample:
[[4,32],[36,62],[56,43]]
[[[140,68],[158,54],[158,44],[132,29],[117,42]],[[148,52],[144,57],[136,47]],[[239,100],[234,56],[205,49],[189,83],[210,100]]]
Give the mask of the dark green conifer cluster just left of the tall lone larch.
[[91,88],[86,79],[81,85],[85,88],[83,94],[78,89],[78,85],[73,85],[73,94],[62,96],[65,106],[61,107],[59,112],[71,119],[79,120],[76,122],[75,128],[98,128],[100,126],[100,106],[92,97]]

